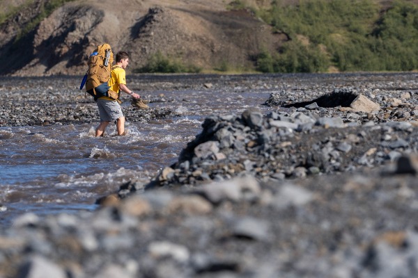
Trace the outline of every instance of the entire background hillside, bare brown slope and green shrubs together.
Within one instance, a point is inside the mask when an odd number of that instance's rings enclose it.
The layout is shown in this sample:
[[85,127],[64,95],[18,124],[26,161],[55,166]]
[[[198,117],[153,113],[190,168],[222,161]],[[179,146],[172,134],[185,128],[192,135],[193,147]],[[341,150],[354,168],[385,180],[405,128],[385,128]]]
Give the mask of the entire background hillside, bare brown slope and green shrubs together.
[[179,72],[418,70],[417,0],[0,3],[0,75],[82,75],[104,42],[130,53],[128,73],[153,72],[151,59]]

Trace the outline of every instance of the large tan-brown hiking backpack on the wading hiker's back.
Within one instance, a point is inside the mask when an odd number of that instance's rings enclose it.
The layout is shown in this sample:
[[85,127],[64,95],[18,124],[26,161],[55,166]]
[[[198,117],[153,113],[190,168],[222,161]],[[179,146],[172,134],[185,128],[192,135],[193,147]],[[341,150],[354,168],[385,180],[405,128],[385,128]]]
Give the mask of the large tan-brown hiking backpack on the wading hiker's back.
[[93,54],[88,57],[88,70],[80,90],[86,84],[86,92],[97,100],[99,97],[112,97],[114,94],[109,95],[109,81],[111,75],[111,64],[113,63],[113,52],[109,44],[101,44],[93,51]]

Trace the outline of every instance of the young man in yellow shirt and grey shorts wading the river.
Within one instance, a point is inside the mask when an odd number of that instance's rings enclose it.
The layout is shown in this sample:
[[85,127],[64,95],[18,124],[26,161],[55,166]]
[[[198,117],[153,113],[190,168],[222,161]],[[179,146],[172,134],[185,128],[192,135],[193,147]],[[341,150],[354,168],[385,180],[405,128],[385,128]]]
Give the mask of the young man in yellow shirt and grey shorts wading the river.
[[[118,97],[122,92],[127,93],[134,99],[139,99],[141,96],[128,89],[125,81],[125,69],[129,65],[129,55],[125,51],[119,51],[116,54],[116,65],[111,67],[111,78],[108,85],[110,90],[118,92]],[[125,117],[122,113],[121,105],[118,100],[109,97],[99,97],[96,101],[99,108],[100,124],[95,130],[95,136],[103,136],[104,130],[109,122],[116,120],[116,130],[118,136],[125,135]]]

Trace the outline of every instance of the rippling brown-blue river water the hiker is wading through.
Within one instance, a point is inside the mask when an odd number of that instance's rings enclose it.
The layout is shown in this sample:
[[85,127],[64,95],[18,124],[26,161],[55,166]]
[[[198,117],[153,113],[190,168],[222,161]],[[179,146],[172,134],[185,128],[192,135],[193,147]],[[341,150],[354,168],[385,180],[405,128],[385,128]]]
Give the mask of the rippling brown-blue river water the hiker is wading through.
[[[128,87],[129,87],[128,80]],[[75,93],[79,79],[74,83]],[[59,88],[57,89],[59,90]],[[95,200],[114,193],[130,180],[152,178],[177,161],[181,149],[201,132],[205,117],[242,113],[262,106],[273,90],[155,90],[180,101],[155,102],[150,108],[171,108],[176,117],[129,122],[127,136],[94,138],[97,122],[49,126],[0,127],[0,225],[23,213],[45,216],[97,208]],[[123,106],[128,106],[125,101]],[[271,108],[270,108],[271,109]],[[99,119],[99,117],[97,117]]]

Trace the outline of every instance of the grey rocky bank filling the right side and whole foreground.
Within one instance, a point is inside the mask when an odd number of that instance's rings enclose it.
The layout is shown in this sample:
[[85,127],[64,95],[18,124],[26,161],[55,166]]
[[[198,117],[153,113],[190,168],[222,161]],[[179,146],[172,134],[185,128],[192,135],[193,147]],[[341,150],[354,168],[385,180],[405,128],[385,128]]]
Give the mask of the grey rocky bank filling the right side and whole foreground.
[[[147,84],[245,91],[270,77]],[[0,277],[416,277],[415,79],[287,76],[274,112],[206,118],[178,163],[99,211],[17,218]]]

